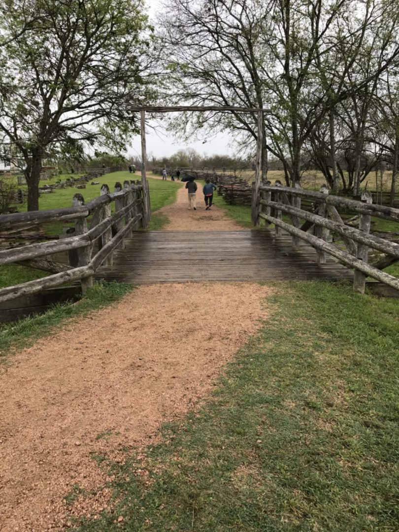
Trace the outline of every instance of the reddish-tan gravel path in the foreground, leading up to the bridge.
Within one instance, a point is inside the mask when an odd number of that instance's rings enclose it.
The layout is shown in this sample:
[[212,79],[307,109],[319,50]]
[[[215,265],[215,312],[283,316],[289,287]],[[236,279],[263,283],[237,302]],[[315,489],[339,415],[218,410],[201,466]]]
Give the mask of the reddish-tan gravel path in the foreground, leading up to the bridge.
[[[123,461],[118,449],[155,442],[163,421],[198,404],[267,318],[271,292],[254,283],[141,286],[3,365],[0,529],[61,530],[68,514],[109,508],[92,453]],[[64,501],[80,489],[98,493]]]

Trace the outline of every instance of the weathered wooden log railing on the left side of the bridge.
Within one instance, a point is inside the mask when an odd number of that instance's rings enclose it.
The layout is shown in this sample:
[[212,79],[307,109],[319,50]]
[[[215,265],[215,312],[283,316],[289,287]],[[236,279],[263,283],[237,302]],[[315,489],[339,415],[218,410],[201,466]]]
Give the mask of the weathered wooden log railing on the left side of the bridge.
[[[48,222],[74,221],[65,238],[24,245],[0,251],[0,264],[22,264],[51,272],[52,275],[0,289],[0,302],[30,295],[47,288],[80,280],[82,292],[93,285],[93,275],[102,265],[112,265],[113,252],[123,248],[123,238],[151,219],[148,181],[141,184],[117,183],[115,192],[103,185],[101,196],[85,204],[84,197],[73,196],[72,207],[32,211],[0,216],[0,231],[42,225]],[[111,214],[111,203],[115,213]],[[90,225],[88,227],[88,217]],[[48,255],[67,252],[68,264],[47,260]]]

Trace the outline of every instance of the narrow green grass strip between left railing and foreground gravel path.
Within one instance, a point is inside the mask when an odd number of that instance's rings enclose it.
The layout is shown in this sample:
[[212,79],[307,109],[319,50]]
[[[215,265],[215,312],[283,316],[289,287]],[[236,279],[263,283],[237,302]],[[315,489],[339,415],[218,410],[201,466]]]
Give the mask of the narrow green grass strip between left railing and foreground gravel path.
[[78,303],[54,305],[45,314],[0,326],[0,360],[21,347],[31,345],[36,338],[48,334],[66,319],[76,318],[119,300],[132,285],[117,282],[96,282]]

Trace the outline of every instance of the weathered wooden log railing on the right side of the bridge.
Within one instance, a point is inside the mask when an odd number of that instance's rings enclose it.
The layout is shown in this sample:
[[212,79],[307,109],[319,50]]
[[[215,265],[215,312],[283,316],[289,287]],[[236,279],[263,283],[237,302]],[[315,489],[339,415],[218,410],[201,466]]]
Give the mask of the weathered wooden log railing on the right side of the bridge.
[[[311,198],[312,212],[301,209],[301,198]],[[360,214],[359,229],[345,225],[339,208]],[[290,223],[282,220],[282,213],[288,215]],[[281,230],[292,235],[293,246],[297,247],[301,240],[310,244],[317,251],[318,264],[325,263],[326,255],[331,255],[353,268],[353,287],[358,292],[364,292],[367,277],[399,290],[397,277],[369,264],[369,248],[384,253],[385,257],[392,257],[392,260],[385,261],[386,265],[399,259],[398,243],[370,234],[371,217],[399,222],[399,209],[372,204],[369,192],[362,194],[361,201],[355,201],[329,195],[326,186],[322,186],[320,192],[313,192],[300,188],[299,184],[283,187],[277,182],[274,186],[269,183],[261,185],[258,193],[253,185],[252,220],[255,226],[263,219],[265,227],[275,226],[276,236],[281,234]],[[309,232],[311,229],[313,234]],[[342,238],[346,250],[328,242],[329,231]]]

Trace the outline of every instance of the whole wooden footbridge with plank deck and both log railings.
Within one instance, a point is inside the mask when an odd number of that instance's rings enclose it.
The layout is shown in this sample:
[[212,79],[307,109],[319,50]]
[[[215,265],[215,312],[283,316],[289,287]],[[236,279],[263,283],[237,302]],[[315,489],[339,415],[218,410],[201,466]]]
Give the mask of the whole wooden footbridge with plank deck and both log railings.
[[[302,197],[314,202],[311,212],[301,209]],[[85,292],[94,278],[136,284],[353,279],[354,288],[364,292],[365,279],[372,277],[398,290],[399,279],[383,270],[399,259],[399,244],[370,234],[370,220],[399,222],[399,209],[374,205],[367,193],[362,199],[332,196],[325,187],[312,192],[260,185],[258,180],[252,190],[255,229],[143,231],[151,219],[144,177],[138,183],[125,181],[123,189],[118,184],[112,194],[103,186],[102,195],[87,204],[76,194],[72,207],[2,215],[3,231],[71,220],[74,230],[66,238],[0,251],[0,264],[25,264],[50,273],[0,289],[0,303],[76,280]],[[345,225],[338,209],[359,214],[359,229]],[[369,264],[369,248],[383,253],[383,261]],[[68,260],[60,262],[60,253]]]

